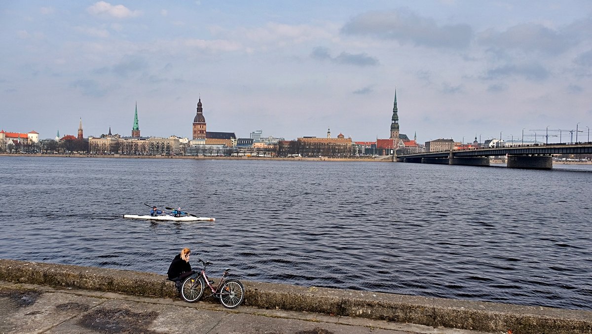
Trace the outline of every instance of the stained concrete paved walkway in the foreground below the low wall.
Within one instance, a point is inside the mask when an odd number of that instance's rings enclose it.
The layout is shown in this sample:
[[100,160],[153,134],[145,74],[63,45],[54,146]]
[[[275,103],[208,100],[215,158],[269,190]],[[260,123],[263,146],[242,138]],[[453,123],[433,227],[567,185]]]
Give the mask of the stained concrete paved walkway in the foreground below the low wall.
[[0,281],[0,333],[478,334],[324,314]]

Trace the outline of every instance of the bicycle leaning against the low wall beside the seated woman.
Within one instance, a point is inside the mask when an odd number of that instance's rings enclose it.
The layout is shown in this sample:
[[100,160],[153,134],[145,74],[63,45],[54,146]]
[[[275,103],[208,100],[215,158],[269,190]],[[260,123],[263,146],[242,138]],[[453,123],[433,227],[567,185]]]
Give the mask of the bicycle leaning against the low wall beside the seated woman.
[[201,262],[203,265],[201,271],[195,272],[193,275],[186,278],[181,285],[181,297],[183,297],[185,301],[188,303],[195,303],[195,301],[200,300],[204,294],[205,286],[207,286],[212,291],[207,297],[214,296],[215,298],[220,299],[220,302],[228,309],[234,309],[243,303],[243,284],[236,278],[226,279],[229,275],[230,268],[224,269],[224,274],[222,274],[220,282],[214,287],[214,281],[210,281],[205,274],[205,267],[212,263],[210,261],[203,261],[202,259],[198,259],[198,262]]

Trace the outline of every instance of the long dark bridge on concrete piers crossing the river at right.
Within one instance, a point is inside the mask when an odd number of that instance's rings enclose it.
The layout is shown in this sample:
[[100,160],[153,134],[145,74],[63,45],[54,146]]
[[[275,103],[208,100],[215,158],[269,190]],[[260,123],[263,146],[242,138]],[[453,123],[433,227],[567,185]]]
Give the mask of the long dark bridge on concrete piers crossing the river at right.
[[592,154],[592,142],[472,147],[470,149],[397,155],[396,159],[398,162],[489,166],[490,156],[507,156],[507,166],[510,168],[551,169],[553,166],[551,155],[554,154]]

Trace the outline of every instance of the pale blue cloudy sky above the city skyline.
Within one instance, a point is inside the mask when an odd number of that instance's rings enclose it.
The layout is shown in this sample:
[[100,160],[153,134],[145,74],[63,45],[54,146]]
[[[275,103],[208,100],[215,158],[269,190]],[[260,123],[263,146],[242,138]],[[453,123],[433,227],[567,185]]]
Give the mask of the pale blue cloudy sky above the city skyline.
[[0,43],[0,128],[41,139],[130,136],[136,102],[191,139],[201,98],[208,131],[374,141],[395,90],[419,143],[592,127],[590,0],[0,1]]

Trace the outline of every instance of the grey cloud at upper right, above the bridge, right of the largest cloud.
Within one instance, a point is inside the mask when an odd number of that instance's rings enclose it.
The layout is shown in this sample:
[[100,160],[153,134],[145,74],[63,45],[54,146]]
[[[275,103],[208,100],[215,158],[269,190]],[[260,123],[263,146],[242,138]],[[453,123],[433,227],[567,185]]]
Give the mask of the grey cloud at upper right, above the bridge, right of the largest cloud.
[[514,25],[502,33],[487,30],[481,34],[479,40],[480,43],[494,48],[551,55],[563,53],[575,44],[573,38],[535,23]]

